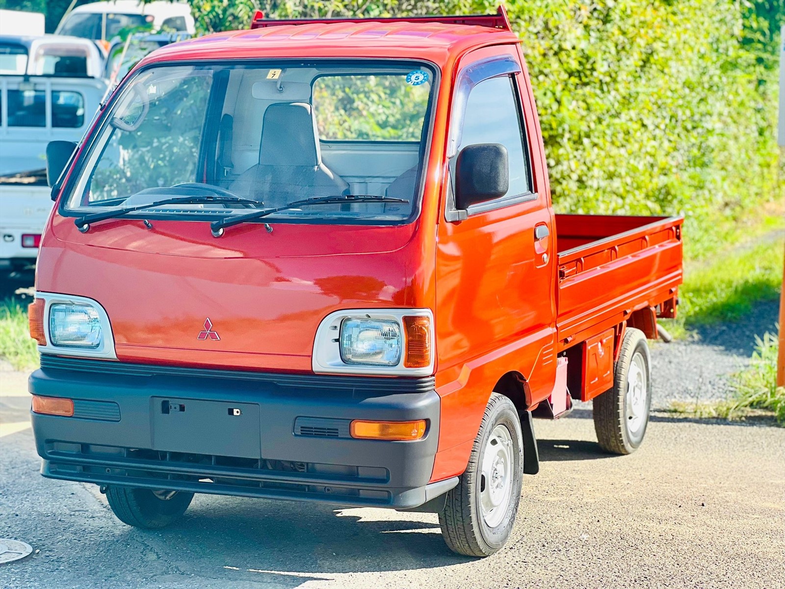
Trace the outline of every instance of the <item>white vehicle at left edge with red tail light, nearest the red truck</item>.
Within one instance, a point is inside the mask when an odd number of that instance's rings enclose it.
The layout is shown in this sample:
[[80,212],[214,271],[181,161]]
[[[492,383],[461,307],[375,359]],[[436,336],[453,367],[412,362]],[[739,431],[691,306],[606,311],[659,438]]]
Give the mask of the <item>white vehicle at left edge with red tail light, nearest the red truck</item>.
[[[9,42],[9,38],[2,41]],[[34,38],[12,41],[14,50],[35,46]],[[104,79],[86,75],[86,64],[79,65],[79,73],[71,71],[75,60],[66,61],[68,68],[57,68],[56,63],[49,75],[29,75],[27,59],[17,63],[20,54],[13,53],[13,57],[21,75],[0,75],[2,277],[19,276],[35,267],[38,241],[52,209],[46,185],[46,145],[58,139],[79,141],[107,90]],[[10,64],[5,65],[7,71]],[[37,66],[29,67],[35,70]]]

